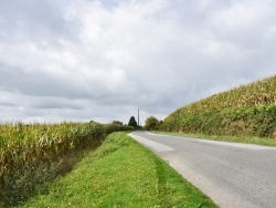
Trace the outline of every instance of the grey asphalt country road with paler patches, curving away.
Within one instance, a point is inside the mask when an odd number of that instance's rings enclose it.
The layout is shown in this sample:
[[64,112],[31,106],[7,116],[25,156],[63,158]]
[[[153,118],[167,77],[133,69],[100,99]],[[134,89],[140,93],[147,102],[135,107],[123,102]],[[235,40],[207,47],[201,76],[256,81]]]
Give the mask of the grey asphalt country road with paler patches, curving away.
[[276,207],[276,148],[148,132],[129,135],[167,160],[219,207]]

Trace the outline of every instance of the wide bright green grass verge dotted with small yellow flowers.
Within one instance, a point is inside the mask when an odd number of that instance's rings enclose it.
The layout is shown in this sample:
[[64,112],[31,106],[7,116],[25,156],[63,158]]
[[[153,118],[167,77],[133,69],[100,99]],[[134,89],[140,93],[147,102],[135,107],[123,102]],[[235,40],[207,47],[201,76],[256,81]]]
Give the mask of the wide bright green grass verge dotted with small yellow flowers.
[[114,133],[24,207],[216,206],[150,150],[125,133]]

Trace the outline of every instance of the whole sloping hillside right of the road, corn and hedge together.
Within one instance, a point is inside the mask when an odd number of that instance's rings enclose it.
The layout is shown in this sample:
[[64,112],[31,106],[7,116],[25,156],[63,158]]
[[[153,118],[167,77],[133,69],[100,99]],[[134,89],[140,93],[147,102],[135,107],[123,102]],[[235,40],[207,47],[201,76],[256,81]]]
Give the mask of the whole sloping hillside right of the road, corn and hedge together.
[[276,138],[276,75],[181,107],[161,129]]

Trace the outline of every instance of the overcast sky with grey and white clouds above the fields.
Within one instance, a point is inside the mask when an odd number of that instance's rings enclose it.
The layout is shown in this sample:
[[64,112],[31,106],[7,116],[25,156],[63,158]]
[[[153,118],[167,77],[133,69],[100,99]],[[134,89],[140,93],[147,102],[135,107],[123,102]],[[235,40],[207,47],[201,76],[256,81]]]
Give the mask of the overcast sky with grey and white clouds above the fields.
[[163,119],[276,74],[273,0],[0,0],[0,119]]

